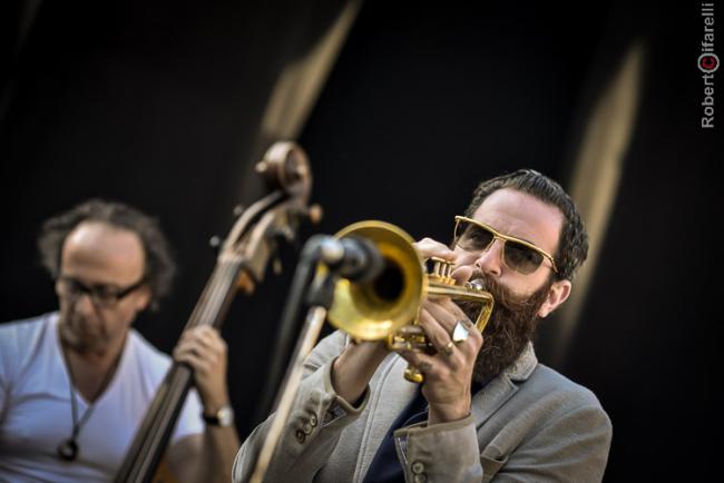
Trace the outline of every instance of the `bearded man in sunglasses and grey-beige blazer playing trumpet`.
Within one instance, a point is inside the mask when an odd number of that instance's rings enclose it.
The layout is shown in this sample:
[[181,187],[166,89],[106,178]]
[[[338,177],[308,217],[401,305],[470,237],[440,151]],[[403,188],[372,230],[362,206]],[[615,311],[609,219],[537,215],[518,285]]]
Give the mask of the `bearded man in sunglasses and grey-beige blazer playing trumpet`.
[[[453,241],[415,244],[449,260],[495,308],[480,334],[468,303],[429,295],[418,322],[433,351],[390,352],[337,331],[305,364],[267,482],[589,482],[603,479],[612,425],[596,396],[539,364],[537,321],[570,294],[587,234],[562,188],[532,170],[483,181]],[[424,377],[404,379],[408,364]],[[247,481],[270,420],[246,440]]]

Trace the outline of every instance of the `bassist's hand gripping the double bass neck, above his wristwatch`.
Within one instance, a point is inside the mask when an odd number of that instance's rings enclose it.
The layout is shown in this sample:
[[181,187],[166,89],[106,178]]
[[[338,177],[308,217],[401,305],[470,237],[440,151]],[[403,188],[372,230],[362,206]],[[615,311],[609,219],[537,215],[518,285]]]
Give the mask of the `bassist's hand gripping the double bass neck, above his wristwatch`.
[[184,332],[174,349],[174,359],[194,369],[196,390],[206,412],[214,413],[228,404],[227,348],[218,331],[202,325]]

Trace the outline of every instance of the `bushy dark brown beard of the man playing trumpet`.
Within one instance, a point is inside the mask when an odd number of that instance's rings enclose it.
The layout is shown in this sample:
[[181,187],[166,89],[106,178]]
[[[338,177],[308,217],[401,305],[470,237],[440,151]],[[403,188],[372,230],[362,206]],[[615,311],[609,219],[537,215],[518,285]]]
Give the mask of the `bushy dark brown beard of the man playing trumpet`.
[[[537,312],[546,300],[552,280],[531,295],[521,297],[480,272],[473,273],[470,279],[476,278],[480,279],[483,290],[490,293],[495,299],[472,373],[472,381],[482,384],[512,364],[532,338],[538,325]],[[458,304],[470,319],[477,318],[479,304],[464,300]]]

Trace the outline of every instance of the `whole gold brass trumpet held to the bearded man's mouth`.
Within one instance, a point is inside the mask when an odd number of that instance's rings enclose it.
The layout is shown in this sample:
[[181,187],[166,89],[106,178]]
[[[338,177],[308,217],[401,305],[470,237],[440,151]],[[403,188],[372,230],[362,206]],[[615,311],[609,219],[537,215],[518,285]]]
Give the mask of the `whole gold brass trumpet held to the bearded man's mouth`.
[[[335,284],[327,319],[354,341],[385,341],[392,351],[433,351],[418,325],[425,296],[469,302],[478,314],[476,328],[485,329],[495,303],[492,296],[476,280],[457,285],[450,276],[452,264],[442,258],[430,258],[432,267],[428,272],[414,240],[401,228],[368,220],[352,224],[334,236],[368,239],[384,260],[384,268],[372,280],[353,283],[341,278]],[[404,377],[413,383],[424,382],[424,375],[413,365],[408,366]]]

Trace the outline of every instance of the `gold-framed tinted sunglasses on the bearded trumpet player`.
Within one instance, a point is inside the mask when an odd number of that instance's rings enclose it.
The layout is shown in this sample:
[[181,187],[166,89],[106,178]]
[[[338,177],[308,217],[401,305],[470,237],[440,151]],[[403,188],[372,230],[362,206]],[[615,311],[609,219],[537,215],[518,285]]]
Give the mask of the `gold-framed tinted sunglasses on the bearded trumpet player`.
[[502,262],[508,268],[529,275],[540,267],[545,258],[548,258],[551,269],[558,273],[554,257],[534,244],[503,235],[472,218],[456,216],[454,246],[467,252],[482,253],[490,248],[495,239],[502,243]]

